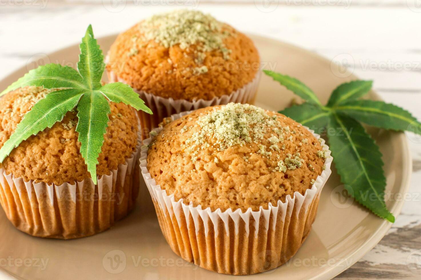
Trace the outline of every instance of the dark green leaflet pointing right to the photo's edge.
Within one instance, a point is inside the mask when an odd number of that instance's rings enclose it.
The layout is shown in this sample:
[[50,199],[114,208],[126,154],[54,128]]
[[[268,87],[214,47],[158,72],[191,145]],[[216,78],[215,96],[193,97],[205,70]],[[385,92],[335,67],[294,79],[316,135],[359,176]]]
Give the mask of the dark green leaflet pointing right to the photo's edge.
[[383,101],[354,100],[335,107],[335,110],[378,128],[421,134],[421,123],[410,112]]

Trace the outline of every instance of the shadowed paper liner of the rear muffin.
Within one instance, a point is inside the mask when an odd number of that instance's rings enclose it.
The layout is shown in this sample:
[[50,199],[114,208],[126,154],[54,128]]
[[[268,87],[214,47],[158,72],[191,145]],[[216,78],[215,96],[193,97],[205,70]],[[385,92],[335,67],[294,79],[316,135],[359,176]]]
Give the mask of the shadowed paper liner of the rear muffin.
[[[107,60],[108,57],[106,61]],[[113,71],[107,71],[107,76],[110,83],[126,83]],[[151,109],[153,112],[153,115],[149,115],[143,111],[139,111],[143,139],[146,139],[149,136],[149,132],[152,130],[152,128],[158,127],[158,124],[165,117],[171,117],[173,114],[179,114],[181,112],[190,110],[197,110],[208,106],[225,105],[229,102],[254,104],[260,77],[261,72],[258,71],[256,72],[256,77],[254,77],[250,83],[244,85],[242,88],[232,92],[229,95],[214,97],[210,100],[198,99],[195,101],[187,101],[184,99],[163,98],[152,93],[133,89],[139,93],[141,99],[145,101],[146,106],[149,107],[149,109]]]

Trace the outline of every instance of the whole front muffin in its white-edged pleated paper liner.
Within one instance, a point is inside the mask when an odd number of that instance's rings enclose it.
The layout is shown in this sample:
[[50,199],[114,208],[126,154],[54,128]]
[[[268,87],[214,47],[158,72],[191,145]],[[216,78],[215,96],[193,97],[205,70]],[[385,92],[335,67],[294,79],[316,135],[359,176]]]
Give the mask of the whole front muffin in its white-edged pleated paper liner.
[[172,250],[232,275],[290,259],[309,234],[330,175],[324,141],[249,104],[173,119],[141,150],[142,175]]

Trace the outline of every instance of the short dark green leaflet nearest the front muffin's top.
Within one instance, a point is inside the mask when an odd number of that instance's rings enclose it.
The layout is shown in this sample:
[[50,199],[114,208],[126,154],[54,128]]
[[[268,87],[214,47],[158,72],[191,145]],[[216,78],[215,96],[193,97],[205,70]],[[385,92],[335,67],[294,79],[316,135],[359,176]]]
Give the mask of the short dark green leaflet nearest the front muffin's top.
[[317,129],[320,128],[324,128],[329,122],[330,116],[330,111],[309,103],[294,105],[279,111],[279,113],[290,117],[302,125],[308,126],[314,131],[317,131]]

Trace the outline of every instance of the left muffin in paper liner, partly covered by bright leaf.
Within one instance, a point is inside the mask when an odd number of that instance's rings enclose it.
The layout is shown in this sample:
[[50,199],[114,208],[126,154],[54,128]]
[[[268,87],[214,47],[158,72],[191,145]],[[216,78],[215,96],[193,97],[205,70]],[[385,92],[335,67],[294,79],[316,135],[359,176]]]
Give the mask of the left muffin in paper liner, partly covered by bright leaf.
[[[49,92],[26,87],[2,97],[0,147]],[[110,107],[97,185],[80,154],[75,112],[30,136],[0,164],[0,203],[17,229],[38,237],[85,237],[108,229],[133,209],[139,189],[139,120],[128,105]]]

